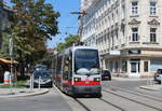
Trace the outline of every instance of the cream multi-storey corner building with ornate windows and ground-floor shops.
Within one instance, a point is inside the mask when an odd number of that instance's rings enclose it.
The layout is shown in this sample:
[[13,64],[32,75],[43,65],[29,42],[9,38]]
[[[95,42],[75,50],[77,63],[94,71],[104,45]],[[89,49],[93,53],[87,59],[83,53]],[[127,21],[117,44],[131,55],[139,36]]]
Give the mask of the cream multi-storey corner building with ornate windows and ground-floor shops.
[[151,77],[162,68],[161,5],[162,0],[81,0],[81,41],[99,48],[103,69],[113,75]]

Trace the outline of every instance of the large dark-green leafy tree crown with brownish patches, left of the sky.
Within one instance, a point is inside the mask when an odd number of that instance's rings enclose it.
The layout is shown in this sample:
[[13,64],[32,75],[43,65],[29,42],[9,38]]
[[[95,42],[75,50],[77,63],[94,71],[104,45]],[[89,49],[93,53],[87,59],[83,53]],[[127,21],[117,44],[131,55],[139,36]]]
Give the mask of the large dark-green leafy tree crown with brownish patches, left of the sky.
[[59,13],[45,0],[12,0],[15,25],[12,29],[14,50],[21,66],[33,65],[46,51],[46,41],[58,33]]

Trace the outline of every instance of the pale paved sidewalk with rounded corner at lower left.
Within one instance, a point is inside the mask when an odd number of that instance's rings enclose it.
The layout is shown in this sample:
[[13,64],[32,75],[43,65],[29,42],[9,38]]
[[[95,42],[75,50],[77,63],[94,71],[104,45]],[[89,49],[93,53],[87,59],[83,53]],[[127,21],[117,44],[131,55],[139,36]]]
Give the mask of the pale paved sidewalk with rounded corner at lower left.
[[49,93],[49,88],[0,88],[0,98],[36,96]]

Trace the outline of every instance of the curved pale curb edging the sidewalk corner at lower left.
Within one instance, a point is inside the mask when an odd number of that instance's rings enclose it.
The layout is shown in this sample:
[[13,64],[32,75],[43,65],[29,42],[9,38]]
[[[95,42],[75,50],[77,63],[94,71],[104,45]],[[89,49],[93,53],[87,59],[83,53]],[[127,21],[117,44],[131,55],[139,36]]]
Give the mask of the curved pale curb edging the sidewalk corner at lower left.
[[46,94],[46,93],[49,93],[49,92],[50,92],[50,89],[42,89],[42,91],[40,91],[40,92],[38,92],[38,93],[31,93],[31,94],[29,94],[29,92],[28,92],[28,94],[26,93],[26,94],[22,94],[22,95],[0,96],[0,98],[29,97],[29,96],[43,95],[43,94]]

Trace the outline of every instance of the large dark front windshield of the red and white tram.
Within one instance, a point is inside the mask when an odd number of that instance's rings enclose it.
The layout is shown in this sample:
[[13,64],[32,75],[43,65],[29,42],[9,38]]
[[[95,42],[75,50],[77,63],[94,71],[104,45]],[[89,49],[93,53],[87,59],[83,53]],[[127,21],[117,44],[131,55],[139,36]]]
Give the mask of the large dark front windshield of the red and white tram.
[[77,50],[75,52],[75,71],[78,74],[99,73],[99,58],[97,50]]

